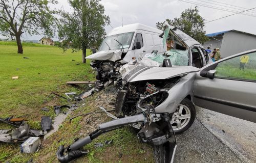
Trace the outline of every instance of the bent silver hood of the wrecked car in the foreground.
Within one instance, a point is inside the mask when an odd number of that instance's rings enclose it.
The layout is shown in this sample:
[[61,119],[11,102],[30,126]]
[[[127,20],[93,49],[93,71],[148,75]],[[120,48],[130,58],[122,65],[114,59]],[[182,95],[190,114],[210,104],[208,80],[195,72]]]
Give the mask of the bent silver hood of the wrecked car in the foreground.
[[200,71],[200,69],[192,66],[148,67],[138,65],[127,72],[123,80],[126,82],[137,82],[141,80],[167,79],[197,71]]

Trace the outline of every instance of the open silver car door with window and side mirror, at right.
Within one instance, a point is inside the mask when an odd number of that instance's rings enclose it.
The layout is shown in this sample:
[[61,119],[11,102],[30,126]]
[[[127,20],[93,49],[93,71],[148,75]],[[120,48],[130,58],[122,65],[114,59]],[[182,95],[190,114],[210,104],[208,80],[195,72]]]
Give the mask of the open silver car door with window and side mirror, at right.
[[256,122],[256,49],[203,67],[194,82],[194,103]]

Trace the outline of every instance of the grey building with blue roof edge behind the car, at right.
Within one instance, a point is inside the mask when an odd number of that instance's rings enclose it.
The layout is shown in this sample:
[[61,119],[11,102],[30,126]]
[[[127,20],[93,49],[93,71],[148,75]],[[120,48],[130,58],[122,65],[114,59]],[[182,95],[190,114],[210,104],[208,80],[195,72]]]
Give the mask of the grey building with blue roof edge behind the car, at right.
[[256,35],[242,31],[229,30],[206,34],[206,36],[210,40],[204,43],[204,48],[207,49],[210,46],[213,50],[219,47],[222,58],[256,48]]

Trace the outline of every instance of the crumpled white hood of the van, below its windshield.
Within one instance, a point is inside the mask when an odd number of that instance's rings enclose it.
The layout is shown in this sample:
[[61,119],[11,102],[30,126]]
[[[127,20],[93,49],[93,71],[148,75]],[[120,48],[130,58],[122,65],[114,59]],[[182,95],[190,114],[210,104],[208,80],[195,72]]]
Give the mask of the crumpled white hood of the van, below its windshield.
[[108,50],[108,51],[98,51],[88,57],[86,59],[97,60],[97,61],[117,61],[120,60],[122,56],[122,51],[120,50]]

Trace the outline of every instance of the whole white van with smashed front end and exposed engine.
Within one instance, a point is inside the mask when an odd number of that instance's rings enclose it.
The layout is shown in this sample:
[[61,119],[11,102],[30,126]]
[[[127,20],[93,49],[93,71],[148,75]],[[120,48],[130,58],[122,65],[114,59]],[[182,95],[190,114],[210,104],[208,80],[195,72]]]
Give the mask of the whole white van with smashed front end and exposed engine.
[[164,53],[166,44],[163,47],[163,39],[159,37],[162,33],[151,26],[136,23],[119,26],[106,35],[98,52],[86,57],[92,60],[91,67],[97,70],[97,89],[103,87],[103,83],[118,80],[121,77],[119,69],[127,62],[154,50]]

